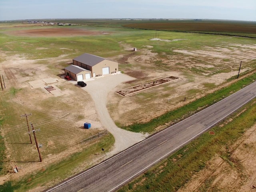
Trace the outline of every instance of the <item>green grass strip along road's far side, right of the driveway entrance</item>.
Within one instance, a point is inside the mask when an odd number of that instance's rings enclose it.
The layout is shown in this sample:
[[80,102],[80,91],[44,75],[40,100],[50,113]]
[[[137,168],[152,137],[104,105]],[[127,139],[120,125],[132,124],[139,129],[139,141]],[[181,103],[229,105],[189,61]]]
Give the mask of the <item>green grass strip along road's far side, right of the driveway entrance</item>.
[[198,108],[200,109],[206,108],[207,106],[220,101],[224,97],[229,96],[233,92],[240,90],[244,86],[251,84],[255,80],[256,80],[256,74],[253,74],[252,76],[239,80],[238,82],[232,84],[231,86],[222,88],[221,90],[218,90],[212,94],[208,94],[207,96],[204,96],[203,98],[200,98],[185,106],[182,106],[181,108],[178,108],[170,112],[166,112],[162,116],[159,116],[158,118],[154,118],[150,122],[147,122],[144,124],[137,123],[137,124],[133,124],[131,126],[125,126],[122,128],[129,131],[133,131],[133,132],[154,132],[155,128],[157,128],[158,126],[164,125],[169,122],[178,122],[190,116],[194,112],[196,112]]

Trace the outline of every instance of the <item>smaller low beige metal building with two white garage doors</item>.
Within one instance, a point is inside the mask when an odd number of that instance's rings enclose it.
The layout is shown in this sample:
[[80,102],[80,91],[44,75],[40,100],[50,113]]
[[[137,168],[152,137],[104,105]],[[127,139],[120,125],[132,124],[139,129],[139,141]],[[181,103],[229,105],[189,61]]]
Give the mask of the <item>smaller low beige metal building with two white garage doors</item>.
[[91,72],[76,65],[70,65],[65,69],[65,75],[70,76],[75,81],[82,81],[91,78]]

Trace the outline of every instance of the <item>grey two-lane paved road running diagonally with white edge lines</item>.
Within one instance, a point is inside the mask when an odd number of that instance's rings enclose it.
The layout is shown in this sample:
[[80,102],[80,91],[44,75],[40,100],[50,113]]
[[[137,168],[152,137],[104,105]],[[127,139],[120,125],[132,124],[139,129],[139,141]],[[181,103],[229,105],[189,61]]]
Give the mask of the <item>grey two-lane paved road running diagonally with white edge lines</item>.
[[256,82],[47,192],[112,192],[256,96]]

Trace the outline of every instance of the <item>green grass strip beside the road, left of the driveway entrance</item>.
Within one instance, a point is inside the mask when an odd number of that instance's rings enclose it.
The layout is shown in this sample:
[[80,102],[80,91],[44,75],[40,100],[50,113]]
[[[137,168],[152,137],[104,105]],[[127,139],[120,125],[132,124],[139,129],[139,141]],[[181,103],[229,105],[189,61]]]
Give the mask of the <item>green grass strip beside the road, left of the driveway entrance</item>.
[[89,145],[82,152],[72,154],[61,162],[51,164],[39,172],[24,176],[22,180],[7,182],[3,186],[0,186],[0,191],[3,190],[6,192],[14,190],[14,192],[26,192],[38,186],[50,187],[49,184],[54,185],[61,180],[77,174],[78,167],[84,170],[93,166],[93,164],[88,162],[90,162],[92,158],[95,158],[95,155],[100,156],[100,154],[102,154],[101,148],[105,149],[104,152],[108,152],[113,144],[114,137],[111,134],[102,136],[100,140]]

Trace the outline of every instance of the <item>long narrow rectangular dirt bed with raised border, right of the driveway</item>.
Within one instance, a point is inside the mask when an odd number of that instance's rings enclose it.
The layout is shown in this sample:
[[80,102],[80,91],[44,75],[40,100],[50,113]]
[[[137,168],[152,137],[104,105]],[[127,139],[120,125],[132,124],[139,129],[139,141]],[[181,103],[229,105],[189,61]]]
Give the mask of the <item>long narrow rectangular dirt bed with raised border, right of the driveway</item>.
[[131,93],[138,92],[138,91],[141,91],[144,89],[148,89],[148,88],[151,88],[154,86],[158,86],[160,84],[167,83],[167,82],[170,82],[175,79],[178,79],[178,77],[174,77],[174,76],[165,77],[162,79],[154,80],[152,82],[136,85],[136,86],[133,86],[133,87],[130,87],[127,89],[123,89],[123,90],[117,91],[117,93],[121,94],[122,96],[126,96],[127,94],[131,94]]

